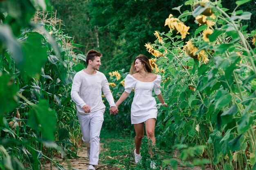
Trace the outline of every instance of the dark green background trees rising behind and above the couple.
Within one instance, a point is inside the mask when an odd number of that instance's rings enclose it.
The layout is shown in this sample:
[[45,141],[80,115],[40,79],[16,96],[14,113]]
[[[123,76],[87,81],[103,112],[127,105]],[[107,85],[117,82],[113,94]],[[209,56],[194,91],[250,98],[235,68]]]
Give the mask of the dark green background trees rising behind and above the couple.
[[[131,60],[137,54],[146,54],[144,44],[153,42],[154,31],[168,32],[164,28],[164,20],[170,13],[174,16],[179,12],[173,10],[184,4],[186,0],[52,0],[65,28],[70,36],[75,36],[75,43],[83,44],[83,52],[90,48],[101,51],[103,67],[101,71],[108,73],[124,68],[129,70]],[[235,1],[222,0],[223,7],[233,11]],[[183,5],[181,11],[189,7]],[[252,13],[247,21],[248,30],[255,29],[255,0],[240,7]],[[188,18],[190,35],[195,31],[195,22]],[[193,26],[194,25],[194,26]]]

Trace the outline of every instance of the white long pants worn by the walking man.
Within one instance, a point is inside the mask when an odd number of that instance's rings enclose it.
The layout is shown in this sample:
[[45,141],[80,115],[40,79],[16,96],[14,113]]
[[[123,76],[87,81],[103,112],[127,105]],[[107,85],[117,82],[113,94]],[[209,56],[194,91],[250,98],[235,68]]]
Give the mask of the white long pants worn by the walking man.
[[83,134],[82,140],[90,148],[91,165],[98,165],[99,161],[99,134],[103,123],[105,110],[91,112],[89,114],[76,113]]

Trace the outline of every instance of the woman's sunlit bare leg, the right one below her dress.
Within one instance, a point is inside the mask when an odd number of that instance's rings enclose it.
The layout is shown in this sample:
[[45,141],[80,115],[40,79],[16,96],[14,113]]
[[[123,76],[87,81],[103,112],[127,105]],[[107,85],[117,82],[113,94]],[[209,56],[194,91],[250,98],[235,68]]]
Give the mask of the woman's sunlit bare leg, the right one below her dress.
[[[147,137],[151,140],[150,144],[155,147],[155,122],[156,120],[154,118],[146,120],[146,134]],[[150,157],[153,157],[153,150],[152,147],[149,146],[148,151]]]

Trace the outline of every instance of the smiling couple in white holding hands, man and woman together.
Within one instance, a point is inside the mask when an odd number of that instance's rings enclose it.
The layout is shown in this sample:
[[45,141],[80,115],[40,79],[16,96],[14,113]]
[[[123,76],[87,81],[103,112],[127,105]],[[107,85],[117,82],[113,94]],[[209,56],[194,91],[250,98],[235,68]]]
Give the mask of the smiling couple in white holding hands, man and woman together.
[[[103,113],[106,106],[102,102],[101,93],[106,96],[110,105],[110,114],[117,114],[119,105],[129,96],[134,88],[134,98],[131,106],[131,123],[135,129],[135,163],[138,164],[140,146],[144,136],[144,124],[146,135],[155,146],[155,122],[157,118],[157,107],[155,98],[152,96],[154,89],[159,101],[164,107],[160,91],[161,76],[152,73],[149,60],[140,54],[133,61],[130,74],[125,78],[125,91],[117,102],[114,102],[110,92],[106,76],[99,72],[101,65],[101,53],[96,50],[89,50],[86,54],[87,68],[76,73],[72,83],[71,97],[76,103],[76,114],[82,131],[82,140],[87,146],[89,157],[88,170],[95,170],[99,160],[99,135],[103,123]],[[149,148],[150,157],[153,157],[153,150]],[[155,162],[151,161],[150,168],[156,169]]]

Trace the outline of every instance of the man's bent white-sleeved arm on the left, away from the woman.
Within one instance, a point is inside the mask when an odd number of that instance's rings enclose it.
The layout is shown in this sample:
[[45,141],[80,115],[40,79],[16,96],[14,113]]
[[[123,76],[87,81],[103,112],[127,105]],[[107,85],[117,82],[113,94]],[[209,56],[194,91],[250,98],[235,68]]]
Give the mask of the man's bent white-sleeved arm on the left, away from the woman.
[[78,94],[81,84],[82,84],[81,77],[79,76],[79,74],[76,74],[74,76],[72,87],[71,87],[71,98],[76,103],[76,105],[79,105],[81,108],[83,108],[83,106],[86,105],[86,103]]

